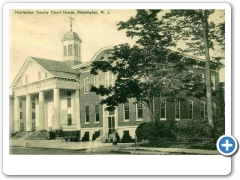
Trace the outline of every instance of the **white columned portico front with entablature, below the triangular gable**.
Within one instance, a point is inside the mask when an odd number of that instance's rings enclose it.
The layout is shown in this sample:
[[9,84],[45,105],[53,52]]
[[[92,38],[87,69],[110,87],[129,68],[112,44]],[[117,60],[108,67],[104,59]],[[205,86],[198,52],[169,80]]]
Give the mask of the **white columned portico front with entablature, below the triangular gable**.
[[[35,125],[37,131],[80,129],[77,79],[49,77],[14,87],[13,92],[15,132],[34,131]],[[24,109],[20,107],[22,103],[25,103]],[[23,129],[20,129],[21,123]]]

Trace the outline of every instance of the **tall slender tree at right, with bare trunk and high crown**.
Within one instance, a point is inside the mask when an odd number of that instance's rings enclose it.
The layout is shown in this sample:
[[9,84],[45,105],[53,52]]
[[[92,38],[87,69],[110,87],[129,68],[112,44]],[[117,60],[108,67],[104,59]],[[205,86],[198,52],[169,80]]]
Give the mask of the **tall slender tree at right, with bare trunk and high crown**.
[[[216,25],[209,22],[210,15],[215,10],[171,10],[164,18],[172,24],[172,36],[175,40],[184,40],[187,48],[179,49],[183,53],[191,53],[193,55],[205,56],[205,83],[207,96],[207,114],[208,123],[213,126],[213,110],[212,110],[212,82],[210,67],[210,49],[214,49],[214,43],[219,42],[224,46],[224,24],[217,27],[220,33],[216,34]],[[219,60],[219,58],[216,58]]]

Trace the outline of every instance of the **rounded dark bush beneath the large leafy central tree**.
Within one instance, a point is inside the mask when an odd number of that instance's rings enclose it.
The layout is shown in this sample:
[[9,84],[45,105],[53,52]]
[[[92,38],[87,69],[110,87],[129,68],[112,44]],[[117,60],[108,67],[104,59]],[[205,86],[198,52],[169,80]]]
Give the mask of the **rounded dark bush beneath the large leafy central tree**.
[[175,139],[174,124],[172,121],[144,122],[136,129],[138,141],[159,139]]

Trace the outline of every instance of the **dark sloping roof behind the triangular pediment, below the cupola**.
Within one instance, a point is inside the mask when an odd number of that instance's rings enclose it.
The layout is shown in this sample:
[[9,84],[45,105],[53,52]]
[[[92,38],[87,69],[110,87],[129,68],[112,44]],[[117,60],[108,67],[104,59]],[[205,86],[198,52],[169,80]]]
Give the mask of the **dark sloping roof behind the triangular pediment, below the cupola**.
[[70,74],[78,74],[78,72],[66,63],[56,60],[42,59],[37,57],[30,57],[33,61],[42,66],[45,70],[51,72],[54,75],[54,72],[64,72]]

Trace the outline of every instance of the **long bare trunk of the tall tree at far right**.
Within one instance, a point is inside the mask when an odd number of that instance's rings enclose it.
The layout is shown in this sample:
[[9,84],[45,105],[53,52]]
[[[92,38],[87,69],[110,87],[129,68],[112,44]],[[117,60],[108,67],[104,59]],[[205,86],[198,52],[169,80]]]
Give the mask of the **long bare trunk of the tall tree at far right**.
[[208,45],[208,34],[207,34],[207,26],[208,22],[206,17],[204,16],[204,11],[201,12],[201,24],[202,24],[202,34],[203,34],[203,42],[205,46],[205,83],[207,88],[207,116],[208,123],[211,126],[213,125],[213,110],[212,110],[212,82],[211,82],[211,68],[210,68],[210,55],[209,55],[209,45]]

